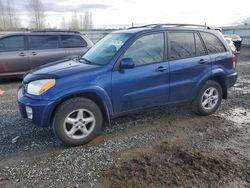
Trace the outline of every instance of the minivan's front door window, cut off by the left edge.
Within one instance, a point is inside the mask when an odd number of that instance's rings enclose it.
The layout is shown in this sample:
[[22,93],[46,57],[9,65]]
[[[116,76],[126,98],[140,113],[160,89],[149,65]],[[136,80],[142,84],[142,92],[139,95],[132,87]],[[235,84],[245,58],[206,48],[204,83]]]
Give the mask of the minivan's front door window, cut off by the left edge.
[[24,36],[12,36],[0,39],[0,52],[24,50]]

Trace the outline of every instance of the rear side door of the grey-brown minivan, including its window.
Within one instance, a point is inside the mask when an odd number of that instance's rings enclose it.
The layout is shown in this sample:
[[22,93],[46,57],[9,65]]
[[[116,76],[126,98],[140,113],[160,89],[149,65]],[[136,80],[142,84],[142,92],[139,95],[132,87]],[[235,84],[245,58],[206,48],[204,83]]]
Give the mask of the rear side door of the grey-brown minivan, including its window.
[[32,68],[67,57],[58,35],[29,35],[29,62]]

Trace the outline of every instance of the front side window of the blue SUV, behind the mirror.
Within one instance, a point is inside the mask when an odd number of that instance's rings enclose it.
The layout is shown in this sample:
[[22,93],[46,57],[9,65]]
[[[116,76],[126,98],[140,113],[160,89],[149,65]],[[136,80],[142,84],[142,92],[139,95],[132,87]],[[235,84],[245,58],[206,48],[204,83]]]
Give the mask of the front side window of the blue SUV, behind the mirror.
[[162,62],[164,34],[151,34],[137,39],[125,52],[123,58],[132,58],[135,66]]

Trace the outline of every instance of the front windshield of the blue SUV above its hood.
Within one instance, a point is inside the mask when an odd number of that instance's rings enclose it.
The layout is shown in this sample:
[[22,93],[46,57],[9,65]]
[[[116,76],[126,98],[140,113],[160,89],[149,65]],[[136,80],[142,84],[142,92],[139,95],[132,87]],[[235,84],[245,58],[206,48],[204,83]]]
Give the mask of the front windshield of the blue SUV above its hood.
[[107,35],[84,54],[80,62],[93,65],[108,64],[129,37],[130,34],[125,33]]

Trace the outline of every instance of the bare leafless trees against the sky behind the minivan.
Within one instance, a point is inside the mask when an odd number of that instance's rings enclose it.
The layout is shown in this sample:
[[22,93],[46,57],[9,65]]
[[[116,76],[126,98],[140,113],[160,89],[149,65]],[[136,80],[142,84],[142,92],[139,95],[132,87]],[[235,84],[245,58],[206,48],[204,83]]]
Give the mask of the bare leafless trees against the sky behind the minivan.
[[[24,28],[18,17],[18,11],[15,4],[9,0],[0,0],[0,30],[17,31],[17,30],[42,30],[52,29],[53,27],[47,22],[45,10],[41,0],[28,0],[25,6],[29,17],[28,28]],[[60,29],[63,30],[91,30],[93,28],[92,13],[85,11],[78,14],[73,12],[70,18],[61,18]]]

